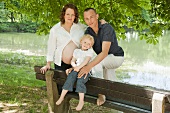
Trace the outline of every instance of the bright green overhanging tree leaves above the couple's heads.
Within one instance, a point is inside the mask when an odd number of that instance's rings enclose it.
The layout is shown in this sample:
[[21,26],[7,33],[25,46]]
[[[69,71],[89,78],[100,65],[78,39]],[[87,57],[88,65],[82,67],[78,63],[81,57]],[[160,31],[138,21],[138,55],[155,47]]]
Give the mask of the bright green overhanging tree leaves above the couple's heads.
[[[138,31],[143,36],[147,30],[149,43],[170,29],[169,0],[3,0],[11,12],[21,13],[40,24],[38,33],[49,33],[49,29],[59,21],[60,11],[66,3],[74,3],[83,22],[83,11],[93,7],[115,29],[117,37],[125,39],[125,26]],[[83,22],[84,23],[84,22]],[[145,39],[145,38],[141,38]],[[154,39],[154,40],[153,40]],[[147,41],[147,40],[146,40]],[[148,42],[148,41],[147,41]],[[157,42],[157,41],[156,41]]]

